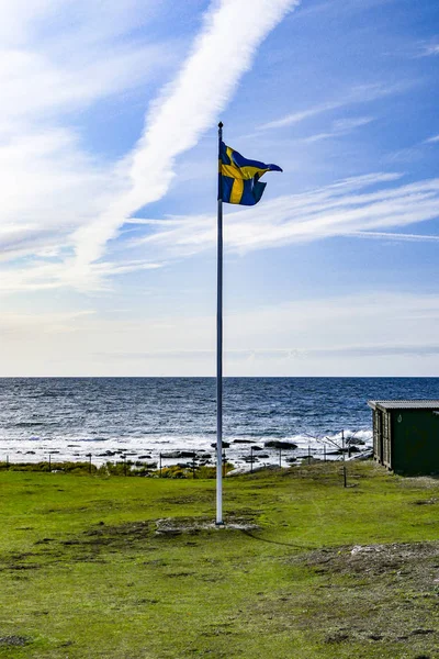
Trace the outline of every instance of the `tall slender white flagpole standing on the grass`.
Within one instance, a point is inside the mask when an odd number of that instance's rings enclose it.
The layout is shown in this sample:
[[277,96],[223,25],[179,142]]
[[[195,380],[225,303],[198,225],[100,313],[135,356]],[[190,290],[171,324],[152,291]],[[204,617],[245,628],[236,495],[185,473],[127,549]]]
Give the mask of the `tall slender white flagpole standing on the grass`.
[[[218,123],[218,160],[223,123]],[[216,524],[223,522],[223,186],[218,172],[218,235],[216,270]]]

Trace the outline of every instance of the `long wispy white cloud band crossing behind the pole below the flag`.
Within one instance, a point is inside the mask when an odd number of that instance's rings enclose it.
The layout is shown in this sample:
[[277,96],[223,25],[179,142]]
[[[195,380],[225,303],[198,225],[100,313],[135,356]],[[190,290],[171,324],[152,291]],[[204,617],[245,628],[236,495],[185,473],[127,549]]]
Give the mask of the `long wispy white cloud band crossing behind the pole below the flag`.
[[[436,236],[385,233],[386,228],[439,216],[439,179],[385,186],[398,178],[398,174],[354,177],[306,193],[266,201],[263,208],[233,211],[227,213],[226,246],[246,253],[347,235],[436,241]],[[370,186],[379,189],[365,191]],[[150,249],[150,254],[160,254],[161,258],[190,256],[214,244],[213,216],[172,216],[170,221],[169,227],[157,227],[132,244],[143,244],[146,254]]]

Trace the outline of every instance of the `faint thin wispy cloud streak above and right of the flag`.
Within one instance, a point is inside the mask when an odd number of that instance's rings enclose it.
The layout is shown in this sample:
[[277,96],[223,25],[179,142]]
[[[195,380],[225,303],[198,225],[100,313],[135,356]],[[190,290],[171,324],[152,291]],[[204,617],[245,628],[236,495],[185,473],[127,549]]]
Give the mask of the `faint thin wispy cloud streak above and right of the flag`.
[[380,98],[384,98],[394,93],[402,93],[409,89],[409,87],[412,87],[410,82],[397,82],[394,85],[357,85],[341,94],[338,99],[317,103],[316,105],[306,108],[305,110],[299,112],[292,112],[291,114],[286,114],[281,119],[261,124],[259,130],[263,131],[270,129],[283,129],[285,126],[291,126],[295,123],[302,122],[306,119],[311,119],[312,116],[330,112],[331,110],[338,110],[339,108],[345,108],[352,104],[370,103]]

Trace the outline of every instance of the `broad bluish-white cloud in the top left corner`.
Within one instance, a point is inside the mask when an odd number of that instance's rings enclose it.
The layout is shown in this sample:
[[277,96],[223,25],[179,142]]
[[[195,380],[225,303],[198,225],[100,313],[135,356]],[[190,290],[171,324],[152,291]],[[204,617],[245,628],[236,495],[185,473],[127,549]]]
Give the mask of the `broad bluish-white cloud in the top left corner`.
[[86,0],[0,2],[0,133],[54,127],[50,122],[63,115],[158,76],[173,60],[176,44],[123,38],[134,21],[147,21],[153,5],[150,0],[127,0],[123,7],[108,0],[104,8]]

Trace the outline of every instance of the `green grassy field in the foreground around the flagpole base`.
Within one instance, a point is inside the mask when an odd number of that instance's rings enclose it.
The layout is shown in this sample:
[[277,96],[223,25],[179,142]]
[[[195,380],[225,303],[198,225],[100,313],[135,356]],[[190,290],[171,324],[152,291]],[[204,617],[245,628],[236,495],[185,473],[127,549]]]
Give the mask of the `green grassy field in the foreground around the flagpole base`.
[[0,657],[439,657],[439,481],[348,482],[0,472]]

